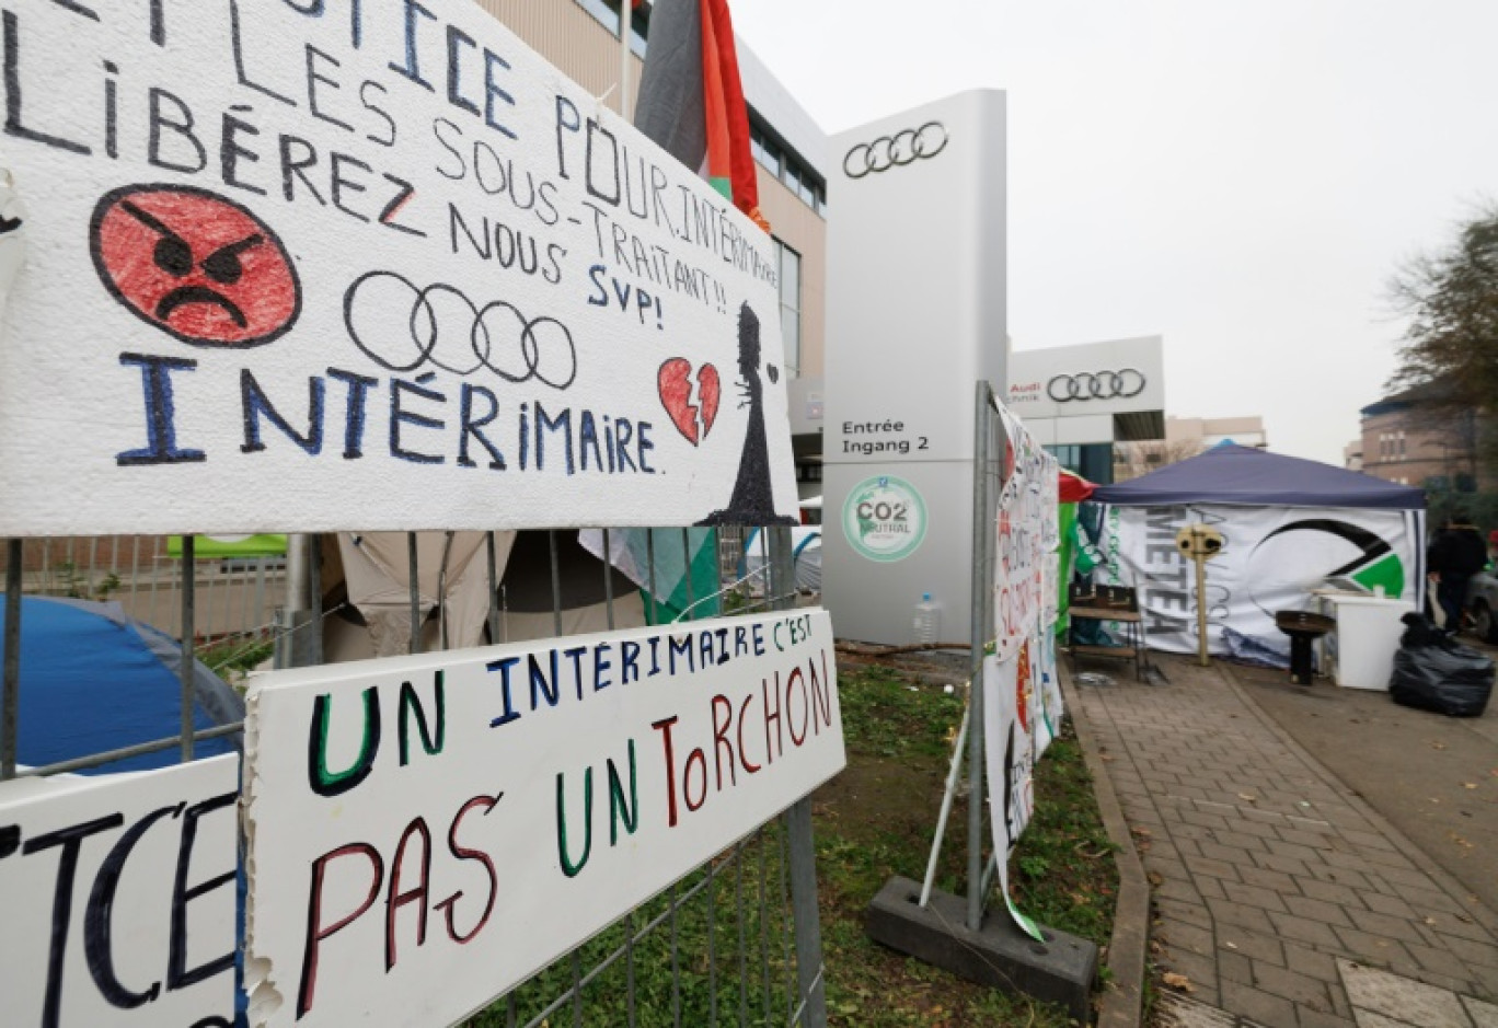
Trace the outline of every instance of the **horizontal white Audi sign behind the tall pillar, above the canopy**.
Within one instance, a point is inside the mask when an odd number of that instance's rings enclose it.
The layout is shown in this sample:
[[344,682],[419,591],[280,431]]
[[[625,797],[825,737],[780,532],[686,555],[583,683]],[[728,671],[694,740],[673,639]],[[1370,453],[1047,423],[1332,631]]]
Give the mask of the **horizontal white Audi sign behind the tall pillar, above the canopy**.
[[1022,418],[1164,411],[1158,336],[1010,354],[1005,400]]

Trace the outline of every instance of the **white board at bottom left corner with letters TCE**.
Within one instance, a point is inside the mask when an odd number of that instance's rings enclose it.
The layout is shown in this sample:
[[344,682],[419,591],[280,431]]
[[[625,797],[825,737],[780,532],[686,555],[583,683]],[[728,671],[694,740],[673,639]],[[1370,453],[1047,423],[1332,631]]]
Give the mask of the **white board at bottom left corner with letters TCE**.
[[234,1024],[238,757],[0,782],[0,1021]]

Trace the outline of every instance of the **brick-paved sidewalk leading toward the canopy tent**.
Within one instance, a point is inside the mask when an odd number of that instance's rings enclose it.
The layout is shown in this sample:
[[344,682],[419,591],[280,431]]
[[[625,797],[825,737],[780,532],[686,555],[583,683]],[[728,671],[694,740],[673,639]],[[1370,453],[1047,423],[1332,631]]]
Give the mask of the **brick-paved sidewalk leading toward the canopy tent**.
[[1168,683],[1110,665],[1112,685],[1073,694],[1153,887],[1152,959],[1183,976],[1156,995],[1155,1024],[1498,1027],[1498,917],[1264,716],[1233,668],[1152,659]]

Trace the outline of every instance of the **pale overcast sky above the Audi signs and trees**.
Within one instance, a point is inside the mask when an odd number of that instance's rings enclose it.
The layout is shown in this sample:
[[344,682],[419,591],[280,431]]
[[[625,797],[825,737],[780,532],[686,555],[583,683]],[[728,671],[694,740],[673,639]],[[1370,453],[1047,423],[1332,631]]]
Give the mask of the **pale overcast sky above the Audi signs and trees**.
[[[1165,339],[1167,414],[1341,463],[1387,282],[1498,199],[1498,1],[737,0],[830,133],[1008,90],[1016,349]],[[836,190],[828,196],[836,217]]]

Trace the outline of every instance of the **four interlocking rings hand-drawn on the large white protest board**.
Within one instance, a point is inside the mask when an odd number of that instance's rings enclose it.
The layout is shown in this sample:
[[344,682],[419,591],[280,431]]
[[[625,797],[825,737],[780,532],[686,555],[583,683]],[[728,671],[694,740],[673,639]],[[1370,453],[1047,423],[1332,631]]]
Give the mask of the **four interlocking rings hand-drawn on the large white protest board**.
[[367,271],[343,294],[343,322],[366,357],[395,373],[427,364],[460,376],[487,369],[556,390],[577,379],[577,348],[560,321],[526,318],[503,300],[479,306],[440,282],[418,286],[394,271]]

